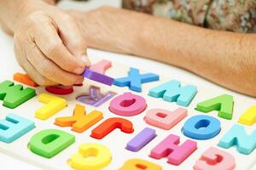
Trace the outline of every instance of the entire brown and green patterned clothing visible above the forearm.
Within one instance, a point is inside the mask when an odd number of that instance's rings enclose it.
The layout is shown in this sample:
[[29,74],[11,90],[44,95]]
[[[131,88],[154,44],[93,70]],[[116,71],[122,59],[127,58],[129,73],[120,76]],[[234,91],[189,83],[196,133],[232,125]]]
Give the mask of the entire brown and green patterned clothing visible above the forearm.
[[256,32],[255,0],[123,0],[123,7],[214,30]]

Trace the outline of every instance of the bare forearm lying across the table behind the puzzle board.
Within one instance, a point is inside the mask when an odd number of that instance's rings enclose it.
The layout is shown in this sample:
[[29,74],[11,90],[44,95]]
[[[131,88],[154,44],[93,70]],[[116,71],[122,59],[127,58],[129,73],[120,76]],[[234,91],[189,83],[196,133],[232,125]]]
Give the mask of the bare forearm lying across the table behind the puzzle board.
[[212,31],[125,9],[70,14],[92,48],[155,59],[256,96],[256,34]]

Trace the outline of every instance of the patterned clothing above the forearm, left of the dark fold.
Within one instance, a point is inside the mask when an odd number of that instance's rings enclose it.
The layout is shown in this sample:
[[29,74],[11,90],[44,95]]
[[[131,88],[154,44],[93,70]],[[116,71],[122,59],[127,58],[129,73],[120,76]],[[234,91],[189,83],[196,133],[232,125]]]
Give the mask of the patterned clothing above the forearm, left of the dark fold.
[[123,7],[204,26],[211,0],[123,0]]

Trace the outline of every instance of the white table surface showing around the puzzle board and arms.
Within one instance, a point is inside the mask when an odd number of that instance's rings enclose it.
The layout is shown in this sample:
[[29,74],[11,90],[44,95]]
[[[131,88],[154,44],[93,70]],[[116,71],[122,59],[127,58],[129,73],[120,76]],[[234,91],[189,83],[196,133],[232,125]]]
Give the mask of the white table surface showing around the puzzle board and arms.
[[[59,6],[60,8],[74,8],[74,9],[88,10],[88,9],[99,7],[102,4],[108,4],[115,7],[119,7],[120,2],[119,0],[108,0],[108,1],[94,0],[89,3],[78,3],[78,2],[74,3],[70,1],[63,1],[59,4]],[[1,64],[0,78],[9,77],[9,79],[11,79],[12,75],[17,70],[20,70],[20,66],[15,60],[13,46],[14,46],[13,38],[4,34],[3,31],[0,31],[0,64]],[[176,78],[178,80],[189,80],[189,83],[195,84],[196,86],[199,86],[199,87],[217,88],[229,94],[235,94],[238,96],[249,98],[247,96],[231,92],[230,90],[227,90],[225,88],[221,88],[218,85],[213,84],[212,82],[208,82],[207,80],[202,79],[201,77],[197,77],[194,74],[189,73],[188,71],[183,71],[171,65],[161,64],[153,60],[141,59],[135,56],[128,56],[124,54],[113,54],[113,53],[103,52],[95,49],[88,49],[88,55],[91,57],[100,56],[105,59],[110,59],[115,62],[123,63],[125,65],[136,65],[136,67],[146,71],[154,70],[154,73],[157,73],[157,74],[168,75],[169,72],[172,72],[172,73],[175,73],[176,75],[176,77],[173,77],[173,78]],[[30,164],[27,164],[26,162],[16,160],[10,156],[5,156],[2,153],[0,153],[0,164],[1,164],[1,169],[17,169],[17,167],[19,167],[19,169],[39,169],[38,167],[34,167]]]

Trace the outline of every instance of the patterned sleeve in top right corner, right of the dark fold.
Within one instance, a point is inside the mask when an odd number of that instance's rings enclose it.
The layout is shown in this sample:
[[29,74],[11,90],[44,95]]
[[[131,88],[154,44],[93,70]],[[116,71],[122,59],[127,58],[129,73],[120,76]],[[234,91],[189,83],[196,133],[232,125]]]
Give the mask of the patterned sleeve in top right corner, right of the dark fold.
[[256,32],[256,1],[213,1],[207,14],[207,27],[224,31]]

